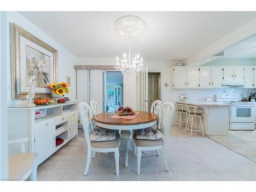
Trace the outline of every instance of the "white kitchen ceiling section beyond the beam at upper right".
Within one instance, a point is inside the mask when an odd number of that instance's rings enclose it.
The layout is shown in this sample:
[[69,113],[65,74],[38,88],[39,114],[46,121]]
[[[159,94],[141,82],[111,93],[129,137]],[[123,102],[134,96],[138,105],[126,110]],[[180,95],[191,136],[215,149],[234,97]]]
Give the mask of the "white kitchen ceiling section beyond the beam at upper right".
[[256,34],[226,49],[220,58],[256,58]]

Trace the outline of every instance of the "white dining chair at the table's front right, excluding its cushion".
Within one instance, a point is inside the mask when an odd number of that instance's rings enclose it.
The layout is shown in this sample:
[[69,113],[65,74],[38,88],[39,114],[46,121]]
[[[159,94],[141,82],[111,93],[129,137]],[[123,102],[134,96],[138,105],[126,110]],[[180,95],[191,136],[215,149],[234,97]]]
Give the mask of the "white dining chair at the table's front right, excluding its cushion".
[[175,105],[172,102],[164,102],[159,110],[159,123],[157,129],[163,134],[163,138],[157,140],[137,139],[136,133],[133,135],[133,140],[136,144],[137,156],[137,174],[140,175],[140,159],[142,151],[161,150],[163,152],[164,165],[166,171],[169,172],[170,168],[167,163],[166,145],[170,125],[174,118]]

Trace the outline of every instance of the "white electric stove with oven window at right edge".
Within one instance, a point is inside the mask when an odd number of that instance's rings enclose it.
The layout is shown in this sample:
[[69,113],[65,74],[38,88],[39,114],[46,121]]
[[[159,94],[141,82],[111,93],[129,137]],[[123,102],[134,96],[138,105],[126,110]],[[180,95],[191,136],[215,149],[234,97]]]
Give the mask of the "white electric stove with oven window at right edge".
[[255,130],[256,102],[243,102],[228,94],[218,94],[215,100],[230,104],[229,130]]

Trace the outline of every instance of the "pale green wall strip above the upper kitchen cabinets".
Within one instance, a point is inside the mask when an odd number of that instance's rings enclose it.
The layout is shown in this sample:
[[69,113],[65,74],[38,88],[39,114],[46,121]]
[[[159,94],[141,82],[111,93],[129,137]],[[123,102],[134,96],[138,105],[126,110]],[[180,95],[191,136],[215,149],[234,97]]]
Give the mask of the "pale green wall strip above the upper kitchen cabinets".
[[215,59],[203,66],[255,66],[256,59]]

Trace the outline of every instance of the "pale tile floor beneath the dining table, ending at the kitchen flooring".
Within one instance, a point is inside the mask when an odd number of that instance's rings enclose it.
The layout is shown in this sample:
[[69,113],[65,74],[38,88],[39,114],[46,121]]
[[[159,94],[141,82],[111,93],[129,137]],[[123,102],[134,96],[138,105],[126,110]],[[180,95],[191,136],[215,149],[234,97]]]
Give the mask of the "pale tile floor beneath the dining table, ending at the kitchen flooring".
[[120,148],[120,175],[115,175],[114,154],[98,153],[91,160],[89,173],[83,176],[87,146],[82,130],[58,152],[38,166],[39,181],[256,181],[256,163],[200,134],[184,133],[184,127],[172,127],[168,138],[166,172],[163,156],[142,154],[141,175],[136,174],[136,156],[130,152],[129,168],[124,167]]

